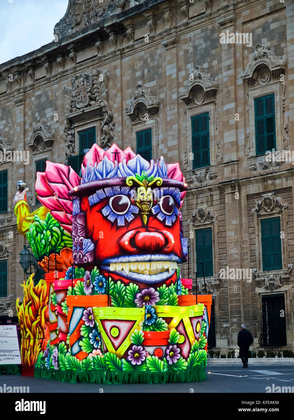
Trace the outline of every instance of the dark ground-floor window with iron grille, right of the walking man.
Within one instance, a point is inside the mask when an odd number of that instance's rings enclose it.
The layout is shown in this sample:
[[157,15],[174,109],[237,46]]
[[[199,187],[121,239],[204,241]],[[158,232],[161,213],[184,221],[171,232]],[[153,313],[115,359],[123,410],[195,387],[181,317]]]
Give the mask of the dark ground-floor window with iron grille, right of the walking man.
[[264,296],[261,303],[263,328],[258,339],[258,344],[260,347],[286,346],[284,295]]

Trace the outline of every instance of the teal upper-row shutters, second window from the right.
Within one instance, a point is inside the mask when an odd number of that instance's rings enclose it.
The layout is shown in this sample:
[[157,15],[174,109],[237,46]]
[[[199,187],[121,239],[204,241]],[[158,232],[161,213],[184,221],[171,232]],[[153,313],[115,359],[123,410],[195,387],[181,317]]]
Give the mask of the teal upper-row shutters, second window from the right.
[[193,169],[210,165],[209,114],[195,115],[192,123]]

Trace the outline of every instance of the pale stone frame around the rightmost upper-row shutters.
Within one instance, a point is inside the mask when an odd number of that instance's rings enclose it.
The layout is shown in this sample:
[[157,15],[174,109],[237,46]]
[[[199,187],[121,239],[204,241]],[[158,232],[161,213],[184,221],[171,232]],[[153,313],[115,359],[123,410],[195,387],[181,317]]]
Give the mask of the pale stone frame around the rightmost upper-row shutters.
[[281,81],[273,81],[266,85],[261,85],[258,87],[252,87],[248,89],[248,112],[249,112],[249,133],[251,136],[249,138],[249,144],[246,148],[250,148],[248,158],[255,157],[262,159],[263,155],[256,155],[256,141],[255,141],[255,103],[254,100],[259,97],[267,96],[274,94],[274,104],[275,104],[275,123],[276,123],[276,150],[284,150],[284,118],[283,118],[283,87]]

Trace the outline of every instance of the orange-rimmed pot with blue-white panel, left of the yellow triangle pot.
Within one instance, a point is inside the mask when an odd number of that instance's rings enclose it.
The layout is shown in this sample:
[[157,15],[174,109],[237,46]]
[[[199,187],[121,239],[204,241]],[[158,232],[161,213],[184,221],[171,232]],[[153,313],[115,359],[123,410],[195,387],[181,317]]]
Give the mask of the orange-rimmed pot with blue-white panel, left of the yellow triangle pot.
[[77,359],[83,360],[88,356],[88,353],[83,352],[79,344],[82,339],[81,326],[85,324],[83,312],[89,307],[107,307],[107,294],[68,295],[66,304],[68,305],[68,332],[70,334],[71,354]]

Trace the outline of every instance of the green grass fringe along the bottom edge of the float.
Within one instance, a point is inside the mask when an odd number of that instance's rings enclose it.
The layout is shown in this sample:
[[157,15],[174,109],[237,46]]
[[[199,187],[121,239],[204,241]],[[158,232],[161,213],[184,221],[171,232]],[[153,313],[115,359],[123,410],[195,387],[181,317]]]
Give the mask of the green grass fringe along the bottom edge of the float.
[[156,372],[114,372],[111,370],[54,370],[35,367],[35,378],[55,379],[62,382],[89,383],[168,383],[198,382],[206,379],[205,367],[197,365],[192,369],[172,370],[164,373]]

